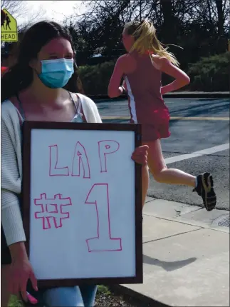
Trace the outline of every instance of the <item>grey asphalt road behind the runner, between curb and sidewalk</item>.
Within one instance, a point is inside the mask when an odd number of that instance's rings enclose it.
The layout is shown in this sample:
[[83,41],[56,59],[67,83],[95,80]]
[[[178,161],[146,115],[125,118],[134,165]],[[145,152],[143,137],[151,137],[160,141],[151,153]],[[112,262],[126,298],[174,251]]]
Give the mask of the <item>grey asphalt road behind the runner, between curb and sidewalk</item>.
[[[127,123],[127,101],[95,101],[103,122]],[[229,99],[165,99],[172,121],[169,139],[162,140],[164,158],[229,144]],[[227,147],[227,145],[226,145]],[[215,149],[213,150],[215,151]],[[216,208],[229,210],[229,149],[168,164],[169,168],[198,175],[210,171],[218,197]],[[187,186],[157,183],[151,176],[149,196],[202,206]]]

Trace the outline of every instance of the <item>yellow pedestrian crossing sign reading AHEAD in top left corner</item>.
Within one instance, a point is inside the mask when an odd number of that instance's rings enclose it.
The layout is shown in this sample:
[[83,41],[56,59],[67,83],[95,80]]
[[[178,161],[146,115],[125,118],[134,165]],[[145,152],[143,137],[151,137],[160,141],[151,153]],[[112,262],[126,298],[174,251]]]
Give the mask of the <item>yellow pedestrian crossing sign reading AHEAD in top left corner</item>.
[[1,41],[18,41],[17,21],[6,9],[1,10]]

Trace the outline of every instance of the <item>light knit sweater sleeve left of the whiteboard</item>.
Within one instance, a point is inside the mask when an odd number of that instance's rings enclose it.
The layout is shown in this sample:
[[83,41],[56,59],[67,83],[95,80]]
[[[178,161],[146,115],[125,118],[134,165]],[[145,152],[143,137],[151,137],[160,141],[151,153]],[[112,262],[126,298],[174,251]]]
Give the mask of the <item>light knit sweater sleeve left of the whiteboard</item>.
[[19,195],[21,193],[21,140],[15,116],[1,116],[1,224],[6,242],[11,245],[26,241],[23,230]]

